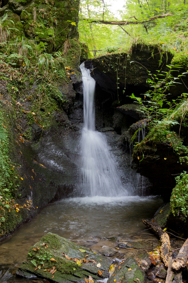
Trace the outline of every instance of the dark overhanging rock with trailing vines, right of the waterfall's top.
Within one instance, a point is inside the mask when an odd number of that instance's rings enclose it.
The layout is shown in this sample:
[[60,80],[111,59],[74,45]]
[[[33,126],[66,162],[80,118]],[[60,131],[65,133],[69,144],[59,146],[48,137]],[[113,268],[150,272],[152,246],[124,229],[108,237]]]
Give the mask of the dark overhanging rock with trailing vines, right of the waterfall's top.
[[[152,56],[152,54],[154,55]],[[168,54],[167,59],[166,55],[164,55],[161,59],[164,71],[168,71],[165,65],[167,62],[170,64],[172,56]],[[137,47],[132,49],[130,55],[126,53],[112,53],[92,60],[88,59],[85,62],[85,67],[90,68],[93,65],[94,69],[91,72],[91,76],[96,80],[101,89],[107,93],[117,93],[118,83],[120,98],[126,100],[127,92],[131,92],[135,87],[140,93],[143,93],[142,90],[144,88],[148,88],[146,83],[147,78],[149,78],[147,70],[150,70],[152,74],[156,74],[156,70],[159,68],[159,61],[160,53],[157,50],[137,45]],[[126,93],[122,95],[121,88],[125,86]]]

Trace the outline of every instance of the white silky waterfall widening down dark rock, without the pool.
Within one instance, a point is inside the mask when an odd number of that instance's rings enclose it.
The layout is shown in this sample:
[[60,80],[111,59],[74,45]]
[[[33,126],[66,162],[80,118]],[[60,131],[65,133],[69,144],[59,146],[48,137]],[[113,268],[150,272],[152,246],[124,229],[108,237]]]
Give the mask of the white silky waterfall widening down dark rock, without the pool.
[[127,196],[104,135],[95,131],[95,80],[80,65],[83,81],[84,128],[81,137],[81,187],[84,196]]

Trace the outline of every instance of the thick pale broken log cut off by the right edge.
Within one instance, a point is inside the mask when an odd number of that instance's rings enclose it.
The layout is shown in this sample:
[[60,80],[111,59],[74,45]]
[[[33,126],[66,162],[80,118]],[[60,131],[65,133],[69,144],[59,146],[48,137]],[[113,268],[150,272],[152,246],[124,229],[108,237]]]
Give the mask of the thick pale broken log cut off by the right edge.
[[188,266],[187,257],[188,257],[188,238],[183,244],[183,246],[180,248],[179,254],[173,260],[172,268],[175,270],[179,270],[181,267]]

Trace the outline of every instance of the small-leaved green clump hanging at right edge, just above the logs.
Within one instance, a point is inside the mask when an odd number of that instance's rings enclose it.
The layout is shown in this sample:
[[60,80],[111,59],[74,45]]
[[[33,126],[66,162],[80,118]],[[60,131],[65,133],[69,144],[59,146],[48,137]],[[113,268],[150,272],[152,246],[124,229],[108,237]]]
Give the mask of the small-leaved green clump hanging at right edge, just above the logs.
[[186,171],[176,177],[176,186],[171,194],[171,211],[174,216],[181,216],[186,221],[188,216],[188,174]]

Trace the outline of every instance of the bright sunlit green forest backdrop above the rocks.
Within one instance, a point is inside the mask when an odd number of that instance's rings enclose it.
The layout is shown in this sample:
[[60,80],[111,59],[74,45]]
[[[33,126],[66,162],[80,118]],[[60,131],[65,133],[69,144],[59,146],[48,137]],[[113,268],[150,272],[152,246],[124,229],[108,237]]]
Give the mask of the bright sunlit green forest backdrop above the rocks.
[[82,0],[80,40],[97,55],[153,44],[173,54],[187,52],[186,0],[127,0],[118,12],[106,0]]

